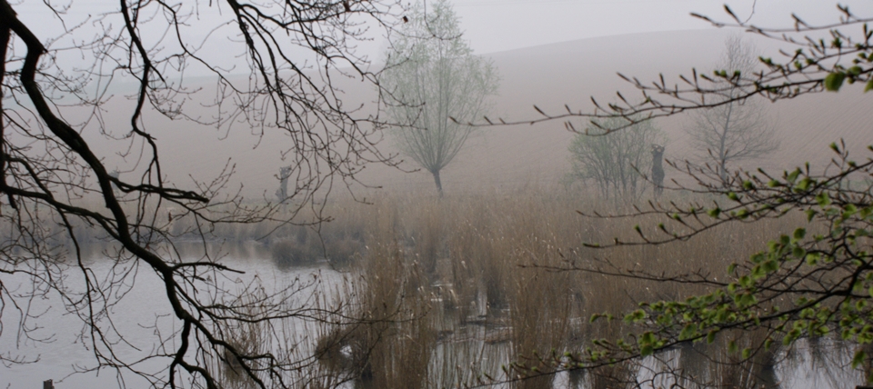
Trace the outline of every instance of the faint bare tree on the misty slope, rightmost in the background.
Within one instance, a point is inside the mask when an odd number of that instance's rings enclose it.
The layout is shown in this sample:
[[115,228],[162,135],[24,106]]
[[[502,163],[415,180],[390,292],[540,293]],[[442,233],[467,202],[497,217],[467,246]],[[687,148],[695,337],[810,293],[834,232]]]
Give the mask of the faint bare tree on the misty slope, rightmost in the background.
[[[754,46],[733,35],[725,42],[725,53],[717,67],[751,75],[759,65]],[[717,84],[725,85],[724,90],[711,97],[712,106],[691,112],[693,124],[686,130],[697,156],[712,160],[724,179],[729,163],[767,155],[778,148],[779,142],[775,129],[767,122],[760,97],[736,100],[742,89],[730,85],[728,80]]]

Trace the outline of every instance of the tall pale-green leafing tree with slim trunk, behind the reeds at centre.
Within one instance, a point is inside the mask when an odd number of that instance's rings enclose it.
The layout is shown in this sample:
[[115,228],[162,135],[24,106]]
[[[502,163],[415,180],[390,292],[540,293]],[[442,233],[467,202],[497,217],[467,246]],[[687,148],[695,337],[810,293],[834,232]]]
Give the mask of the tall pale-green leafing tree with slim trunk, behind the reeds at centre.
[[386,111],[399,124],[393,132],[400,150],[434,176],[464,147],[485,114],[498,77],[486,59],[473,55],[461,39],[458,19],[447,0],[418,4],[387,53],[380,78]]

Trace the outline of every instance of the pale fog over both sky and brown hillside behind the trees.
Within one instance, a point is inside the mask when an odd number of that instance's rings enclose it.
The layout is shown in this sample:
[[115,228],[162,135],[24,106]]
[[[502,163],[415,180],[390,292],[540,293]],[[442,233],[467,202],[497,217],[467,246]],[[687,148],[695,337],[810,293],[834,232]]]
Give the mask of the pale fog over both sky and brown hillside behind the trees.
[[[109,3],[91,0],[85,5],[104,6]],[[869,2],[844,2],[856,12],[868,12]],[[92,19],[89,6],[76,3],[70,8],[74,20]],[[809,23],[828,23],[838,17],[835,5],[820,1],[734,1],[728,5],[737,15],[746,15],[749,23],[762,26],[790,26],[794,14]],[[752,7],[754,5],[754,8]],[[678,75],[688,75],[692,68],[708,74],[713,70],[723,42],[728,35],[742,34],[737,29],[715,28],[691,17],[692,12],[729,21],[721,1],[544,1],[527,0],[458,0],[455,3],[465,39],[474,52],[494,60],[501,84],[493,99],[492,118],[526,120],[538,117],[533,105],[547,113],[564,112],[567,105],[574,110],[589,110],[590,98],[604,103],[616,99],[616,91],[636,98],[635,90],[617,77],[617,72],[654,80],[665,75],[669,83],[677,83]],[[33,17],[40,5],[17,5],[23,17]],[[110,8],[111,9],[111,6]],[[222,8],[199,5],[192,8],[196,18],[208,20],[221,14]],[[57,25],[55,25],[56,27]],[[214,34],[223,34],[219,29]],[[43,32],[46,35],[51,30]],[[206,34],[204,32],[203,34]],[[375,59],[386,48],[385,36],[373,35],[356,51]],[[778,50],[793,51],[790,45],[777,40],[747,34],[762,55],[778,58]],[[221,57],[220,64],[232,68],[233,62],[220,45],[204,47],[205,57]],[[304,58],[305,59],[305,58]],[[376,63],[375,67],[378,66]],[[197,74],[196,66],[188,75]],[[115,80],[117,82],[118,80]],[[133,84],[115,85],[110,92],[115,97],[105,105],[103,121],[110,133],[120,136],[126,131],[125,107],[132,106],[129,97]],[[337,77],[333,80],[344,104],[360,107],[356,116],[364,118],[376,112],[375,90],[360,79]],[[215,112],[204,105],[214,100],[215,80],[210,77],[188,77],[191,89],[202,88],[184,109],[186,115],[211,119]],[[869,115],[858,109],[863,101],[857,98],[858,88],[849,88],[837,95],[801,97],[797,101],[774,105],[768,110],[770,121],[778,127],[785,143],[770,160],[755,161],[757,165],[783,169],[807,160],[828,160],[826,145],[846,138],[849,145],[866,145],[866,132],[856,131],[857,125],[868,123]],[[131,89],[133,90],[133,89]],[[198,101],[199,99],[199,101]],[[199,103],[199,104],[198,104]],[[810,109],[815,107],[816,109]],[[75,108],[64,113],[72,122],[85,120],[86,113]],[[156,135],[166,175],[179,186],[190,184],[190,177],[208,180],[226,164],[236,166],[234,185],[245,183],[244,194],[250,199],[272,198],[278,179],[278,169],[284,164],[282,153],[290,147],[282,134],[261,134],[258,129],[234,127],[215,129],[186,120],[168,121],[146,113],[145,123]],[[667,159],[682,160],[689,156],[682,131],[686,118],[682,116],[660,120],[670,139]],[[578,121],[582,123],[581,121]],[[803,125],[800,125],[803,124]],[[83,131],[85,137],[99,146],[100,155],[122,172],[132,174],[138,158],[119,153],[131,147],[126,141],[106,141],[92,124]],[[518,125],[483,128],[465,147],[457,161],[447,167],[444,180],[447,192],[477,191],[513,185],[555,184],[567,172],[567,143],[571,138],[564,125]],[[136,150],[140,145],[133,145]],[[386,154],[396,153],[389,139],[381,142]],[[402,159],[402,155],[397,158]],[[776,163],[778,161],[778,164]],[[386,190],[410,190],[426,185],[428,175],[407,174],[415,165],[402,169],[370,165],[357,178],[366,185],[383,186]],[[124,174],[124,173],[123,173]]]

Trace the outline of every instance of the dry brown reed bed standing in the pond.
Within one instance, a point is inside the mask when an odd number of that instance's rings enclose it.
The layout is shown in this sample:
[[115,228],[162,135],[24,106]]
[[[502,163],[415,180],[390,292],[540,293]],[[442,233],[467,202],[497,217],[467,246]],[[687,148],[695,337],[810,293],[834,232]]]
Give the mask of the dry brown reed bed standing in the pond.
[[[647,325],[592,322],[592,315],[621,317],[640,302],[710,293],[704,283],[689,280],[728,280],[731,263],[766,247],[768,236],[804,223],[803,214],[726,224],[685,242],[603,251],[584,243],[629,240],[637,236],[634,225],[568,212],[613,205],[559,190],[385,197],[372,205],[330,206],[337,216],[322,225],[324,241],[346,236],[356,250],[341,268],[343,281],[322,285],[330,298],[319,304],[335,313],[340,304],[361,320],[325,320],[306,335],[286,330],[300,338],[293,342],[296,352],[316,361],[295,373],[305,387],[780,387],[817,353],[852,352],[823,336],[751,355],[732,353],[768,336],[753,331],[567,371],[604,342],[627,339]],[[320,244],[306,246],[320,241],[305,227],[286,226],[276,234],[266,244],[274,253],[295,246],[299,253],[324,257],[315,248]],[[836,372],[845,367],[819,365]],[[849,374],[860,379],[859,372]]]

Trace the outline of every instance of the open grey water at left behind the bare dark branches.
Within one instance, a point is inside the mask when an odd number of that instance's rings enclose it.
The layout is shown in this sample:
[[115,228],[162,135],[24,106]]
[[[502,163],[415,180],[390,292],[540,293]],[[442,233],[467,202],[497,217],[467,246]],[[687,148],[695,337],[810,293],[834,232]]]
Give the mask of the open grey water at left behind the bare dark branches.
[[[154,272],[141,265],[127,264],[121,268],[100,258],[100,250],[85,262],[85,266],[93,276],[101,279],[115,277],[124,279],[122,290],[127,290],[119,296],[119,304],[110,309],[115,328],[124,336],[124,342],[115,344],[114,350],[125,360],[135,360],[156,350],[157,336],[171,337],[178,325],[166,302],[164,284]],[[276,267],[269,254],[257,246],[236,248],[223,256],[219,262],[226,264],[244,274],[228,274],[218,281],[220,286],[235,290],[249,284],[254,277],[259,279],[266,291],[276,287],[292,284],[301,280],[317,279],[319,282],[310,288],[327,288],[331,284],[341,283],[343,275],[331,270],[326,264],[316,264],[307,268]],[[133,270],[133,274],[122,278],[122,274]],[[81,289],[82,272],[76,267],[67,267],[64,271],[64,284],[75,290]],[[217,278],[217,277],[216,277]],[[7,290],[17,293],[29,293],[33,282],[25,274],[5,276],[2,279]],[[30,299],[28,302],[32,315],[38,317],[28,319],[27,325],[35,328],[29,334],[39,339],[28,339],[18,332],[17,322],[20,314],[6,302],[0,324],[3,324],[0,334],[0,355],[5,358],[20,358],[28,361],[26,364],[3,364],[0,366],[0,388],[41,388],[45,380],[53,380],[59,389],[112,388],[122,383],[129,388],[148,387],[147,382],[135,374],[116,374],[115,370],[104,369],[86,373],[95,365],[95,354],[90,349],[91,337],[82,320],[75,314],[65,310],[62,297],[56,293],[45,297]],[[159,334],[159,335],[158,335]],[[111,339],[119,341],[117,337]],[[168,344],[169,345],[169,344]],[[166,368],[168,360],[146,360],[137,367],[142,371],[160,374]]]

